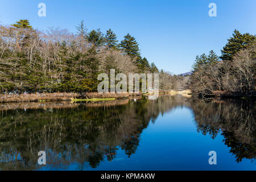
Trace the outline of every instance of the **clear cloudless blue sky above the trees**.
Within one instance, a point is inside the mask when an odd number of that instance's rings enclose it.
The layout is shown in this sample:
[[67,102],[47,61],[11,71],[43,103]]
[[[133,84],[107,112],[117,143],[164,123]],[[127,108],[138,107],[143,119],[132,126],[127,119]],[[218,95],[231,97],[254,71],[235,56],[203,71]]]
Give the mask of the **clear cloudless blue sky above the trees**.
[[[217,17],[210,17],[209,3],[216,3]],[[46,17],[38,4],[46,4]],[[88,30],[109,28],[122,40],[127,33],[137,39],[141,54],[164,71],[191,70],[196,55],[210,50],[221,54],[234,29],[256,33],[255,0],[0,0],[0,23],[29,19],[39,30],[67,28],[85,20]]]

